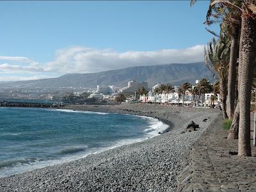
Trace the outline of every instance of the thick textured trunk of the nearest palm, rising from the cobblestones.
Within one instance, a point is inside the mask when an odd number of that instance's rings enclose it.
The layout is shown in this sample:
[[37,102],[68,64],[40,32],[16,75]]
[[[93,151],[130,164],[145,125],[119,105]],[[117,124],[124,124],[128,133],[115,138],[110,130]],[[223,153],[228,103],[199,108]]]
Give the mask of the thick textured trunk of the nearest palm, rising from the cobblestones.
[[252,93],[253,65],[256,54],[256,20],[250,15],[242,15],[241,36],[243,39],[243,63],[239,74],[239,137],[238,156],[252,156],[250,143],[250,102]]

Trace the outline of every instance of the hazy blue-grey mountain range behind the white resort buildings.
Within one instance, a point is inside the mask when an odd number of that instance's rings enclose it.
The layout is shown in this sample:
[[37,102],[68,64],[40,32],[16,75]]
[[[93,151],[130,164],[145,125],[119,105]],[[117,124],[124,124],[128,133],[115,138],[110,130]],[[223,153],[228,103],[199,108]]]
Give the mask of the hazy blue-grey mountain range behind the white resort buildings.
[[30,81],[1,82],[1,87],[29,87],[29,88],[95,88],[97,84],[127,86],[127,82],[144,81],[148,86],[161,83],[180,85],[185,81],[195,84],[196,79],[205,77],[213,81],[212,72],[205,67],[204,62],[198,63],[172,63],[166,65],[129,67],[118,70],[88,74],[65,74],[50,79],[38,79]]

